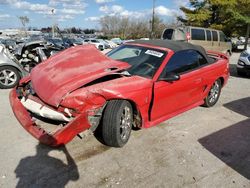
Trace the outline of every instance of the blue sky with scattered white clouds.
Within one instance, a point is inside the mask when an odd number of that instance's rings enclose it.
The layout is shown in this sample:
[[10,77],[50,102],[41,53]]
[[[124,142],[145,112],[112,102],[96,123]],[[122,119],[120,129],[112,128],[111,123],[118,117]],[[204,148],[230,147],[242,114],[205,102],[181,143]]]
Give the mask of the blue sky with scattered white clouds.
[[[28,26],[98,28],[105,15],[149,19],[153,0],[0,0],[0,28],[20,28],[19,16],[30,19]],[[171,21],[180,14],[180,5],[188,0],[156,0],[155,11],[163,20]]]

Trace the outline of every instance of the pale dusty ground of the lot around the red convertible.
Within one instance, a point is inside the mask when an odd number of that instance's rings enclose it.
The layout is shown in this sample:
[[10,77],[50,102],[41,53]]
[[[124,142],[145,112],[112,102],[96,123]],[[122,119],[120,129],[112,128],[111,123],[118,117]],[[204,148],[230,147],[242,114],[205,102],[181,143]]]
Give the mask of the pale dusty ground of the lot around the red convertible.
[[231,77],[213,108],[198,107],[109,148],[94,136],[40,145],[0,91],[0,187],[250,187],[250,79]]

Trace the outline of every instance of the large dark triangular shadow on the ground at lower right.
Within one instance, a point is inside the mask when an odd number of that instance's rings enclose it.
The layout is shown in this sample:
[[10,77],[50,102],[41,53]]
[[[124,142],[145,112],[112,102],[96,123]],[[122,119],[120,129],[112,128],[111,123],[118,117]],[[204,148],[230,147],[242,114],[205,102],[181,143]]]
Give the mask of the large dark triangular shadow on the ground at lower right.
[[250,179],[250,118],[198,141],[221,161]]

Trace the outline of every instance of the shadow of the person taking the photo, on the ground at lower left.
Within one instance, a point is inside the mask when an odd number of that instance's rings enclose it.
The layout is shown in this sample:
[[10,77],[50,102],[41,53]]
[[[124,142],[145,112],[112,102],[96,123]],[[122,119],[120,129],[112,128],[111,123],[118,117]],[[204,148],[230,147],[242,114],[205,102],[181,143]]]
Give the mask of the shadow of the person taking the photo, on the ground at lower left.
[[79,179],[79,172],[73,158],[65,146],[58,150],[66,156],[67,163],[49,156],[49,152],[55,150],[39,144],[36,146],[37,153],[22,159],[15,169],[16,177],[19,178],[17,187],[65,187],[73,180]]

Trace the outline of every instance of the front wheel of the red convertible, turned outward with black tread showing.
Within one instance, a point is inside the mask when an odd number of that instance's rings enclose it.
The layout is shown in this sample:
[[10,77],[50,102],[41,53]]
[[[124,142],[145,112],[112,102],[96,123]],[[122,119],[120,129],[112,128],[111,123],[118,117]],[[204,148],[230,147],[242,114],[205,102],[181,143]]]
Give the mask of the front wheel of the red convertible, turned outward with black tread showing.
[[112,147],[124,146],[130,137],[133,123],[133,109],[125,100],[110,101],[102,118],[102,140]]

